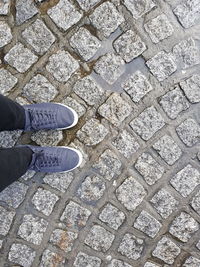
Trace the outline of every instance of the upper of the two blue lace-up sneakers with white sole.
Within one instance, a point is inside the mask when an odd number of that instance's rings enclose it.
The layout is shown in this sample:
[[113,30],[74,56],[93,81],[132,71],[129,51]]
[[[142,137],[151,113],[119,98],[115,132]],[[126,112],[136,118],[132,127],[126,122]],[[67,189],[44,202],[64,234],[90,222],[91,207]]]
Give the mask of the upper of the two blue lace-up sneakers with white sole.
[[78,122],[75,110],[57,103],[24,105],[25,131],[68,129]]

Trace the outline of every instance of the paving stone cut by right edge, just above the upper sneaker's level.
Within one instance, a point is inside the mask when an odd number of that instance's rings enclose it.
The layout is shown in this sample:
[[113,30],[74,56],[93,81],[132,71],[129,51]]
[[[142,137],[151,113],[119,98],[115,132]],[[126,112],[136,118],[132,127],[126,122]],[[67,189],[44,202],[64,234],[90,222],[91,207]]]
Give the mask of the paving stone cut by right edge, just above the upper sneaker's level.
[[180,86],[191,103],[200,102],[200,75],[195,74],[185,81],[181,81]]

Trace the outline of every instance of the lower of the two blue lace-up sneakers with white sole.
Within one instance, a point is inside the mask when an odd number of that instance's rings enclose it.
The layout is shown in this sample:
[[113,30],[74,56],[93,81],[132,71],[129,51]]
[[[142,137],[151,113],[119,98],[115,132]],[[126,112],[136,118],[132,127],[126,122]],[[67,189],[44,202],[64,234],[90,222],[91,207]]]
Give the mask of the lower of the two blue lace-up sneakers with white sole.
[[82,162],[82,154],[75,148],[25,146],[33,151],[28,169],[36,172],[69,172]]

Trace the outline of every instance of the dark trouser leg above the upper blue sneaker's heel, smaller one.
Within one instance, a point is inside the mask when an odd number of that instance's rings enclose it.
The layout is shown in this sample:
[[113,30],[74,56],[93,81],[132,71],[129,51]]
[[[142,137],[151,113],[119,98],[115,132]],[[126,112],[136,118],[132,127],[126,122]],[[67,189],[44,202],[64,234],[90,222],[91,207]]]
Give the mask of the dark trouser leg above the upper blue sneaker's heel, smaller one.
[[0,95],[0,131],[24,129],[25,110],[11,99]]

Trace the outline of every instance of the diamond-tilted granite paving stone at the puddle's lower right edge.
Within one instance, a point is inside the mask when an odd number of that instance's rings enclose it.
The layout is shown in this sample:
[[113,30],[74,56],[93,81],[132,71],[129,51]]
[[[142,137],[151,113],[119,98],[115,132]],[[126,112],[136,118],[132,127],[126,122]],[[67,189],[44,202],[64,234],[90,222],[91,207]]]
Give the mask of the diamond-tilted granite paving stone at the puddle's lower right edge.
[[138,103],[147,93],[153,90],[152,85],[141,71],[136,71],[130,75],[122,83],[122,87],[135,103]]

